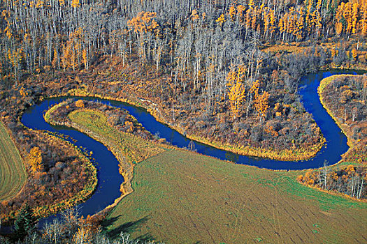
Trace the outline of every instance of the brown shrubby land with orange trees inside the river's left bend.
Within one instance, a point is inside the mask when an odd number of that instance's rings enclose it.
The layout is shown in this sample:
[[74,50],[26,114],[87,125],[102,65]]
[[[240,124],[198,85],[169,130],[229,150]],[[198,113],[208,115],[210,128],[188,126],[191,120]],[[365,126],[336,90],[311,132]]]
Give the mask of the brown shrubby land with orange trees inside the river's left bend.
[[[28,178],[15,197],[1,201],[0,218],[12,220],[27,202],[37,218],[87,199],[96,188],[96,168],[79,148],[48,132],[18,130]],[[27,153],[29,151],[29,153]],[[78,180],[75,180],[78,178]]]

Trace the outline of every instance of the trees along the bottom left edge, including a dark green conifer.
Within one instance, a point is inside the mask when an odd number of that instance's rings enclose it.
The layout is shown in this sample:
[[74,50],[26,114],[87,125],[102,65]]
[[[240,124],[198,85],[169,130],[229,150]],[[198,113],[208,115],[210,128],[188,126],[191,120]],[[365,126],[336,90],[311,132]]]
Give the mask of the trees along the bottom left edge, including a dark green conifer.
[[[154,241],[142,241],[131,238],[129,234],[121,232],[113,238],[103,230],[103,215],[80,216],[77,208],[68,208],[52,222],[46,222],[38,228],[33,209],[23,204],[17,215],[13,231],[0,235],[3,244],[150,244]],[[123,231],[123,230],[122,230]]]

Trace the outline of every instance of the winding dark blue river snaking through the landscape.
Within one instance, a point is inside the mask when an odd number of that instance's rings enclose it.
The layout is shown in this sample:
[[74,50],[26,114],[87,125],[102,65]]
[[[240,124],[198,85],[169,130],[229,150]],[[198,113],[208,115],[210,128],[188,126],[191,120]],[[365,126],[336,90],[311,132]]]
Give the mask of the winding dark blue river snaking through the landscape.
[[[343,132],[338,128],[338,125],[331,119],[331,116],[327,114],[326,110],[322,107],[319,97],[317,94],[317,87],[321,79],[329,77],[330,75],[336,74],[357,74],[356,71],[352,70],[329,70],[321,71],[319,73],[313,73],[306,75],[301,80],[301,84],[298,87],[298,93],[301,95],[303,105],[305,109],[312,114],[317,125],[321,128],[324,137],[326,138],[326,145],[322,148],[315,157],[310,160],[302,161],[278,161],[269,160],[265,158],[247,157],[244,155],[238,155],[228,151],[220,150],[201,144],[195,143],[195,148],[199,153],[204,155],[210,155],[221,160],[231,160],[238,164],[253,165],[260,168],[266,169],[310,169],[317,168],[324,165],[324,160],[327,160],[329,165],[333,165],[341,159],[341,154],[345,153],[348,149],[347,138],[343,135]],[[80,97],[67,97],[79,99]],[[100,142],[96,142],[94,139],[87,135],[73,130],[72,128],[66,128],[63,126],[52,126],[45,122],[43,114],[45,111],[59,102],[66,100],[67,98],[50,98],[43,102],[36,104],[22,116],[22,123],[29,128],[36,130],[48,130],[51,132],[58,132],[64,135],[69,135],[72,139],[77,142],[71,141],[76,146],[82,146],[87,148],[87,151],[93,152],[93,157],[96,160],[94,164],[98,170],[98,186],[97,190],[84,203],[80,204],[81,215],[92,215],[98,211],[103,210],[109,204],[120,197],[120,184],[124,180],[118,171],[118,162],[110,151],[103,146]],[[130,114],[136,119],[153,135],[159,135],[159,137],[165,138],[167,142],[170,142],[174,146],[187,147],[190,139],[180,135],[177,131],[169,128],[163,123],[159,123],[150,115],[145,109],[141,107],[135,107],[125,102],[118,102],[114,100],[104,100],[100,98],[80,98],[83,100],[93,100],[96,102],[103,102],[107,105],[120,107],[127,109]],[[41,220],[41,225],[45,221],[52,220],[52,217]]]

